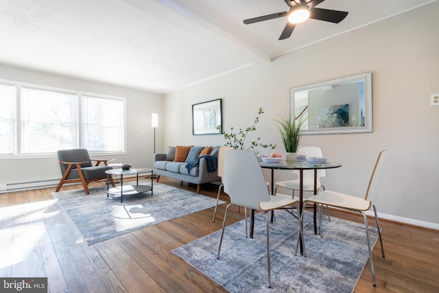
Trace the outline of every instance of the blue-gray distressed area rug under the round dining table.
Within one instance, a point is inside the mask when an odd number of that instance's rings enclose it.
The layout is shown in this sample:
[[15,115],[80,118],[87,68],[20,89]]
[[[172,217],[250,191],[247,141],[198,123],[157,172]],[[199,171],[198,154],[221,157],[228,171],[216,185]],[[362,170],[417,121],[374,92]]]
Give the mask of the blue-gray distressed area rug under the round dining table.
[[[298,222],[276,211],[276,222],[270,224],[271,289],[263,213],[255,216],[253,239],[245,237],[244,220],[226,227],[219,259],[221,231],[173,252],[230,292],[352,292],[368,260],[364,225],[337,218],[322,222],[322,237],[314,235],[312,213],[305,213],[308,256],[296,256]],[[377,235],[370,228],[372,246]]]

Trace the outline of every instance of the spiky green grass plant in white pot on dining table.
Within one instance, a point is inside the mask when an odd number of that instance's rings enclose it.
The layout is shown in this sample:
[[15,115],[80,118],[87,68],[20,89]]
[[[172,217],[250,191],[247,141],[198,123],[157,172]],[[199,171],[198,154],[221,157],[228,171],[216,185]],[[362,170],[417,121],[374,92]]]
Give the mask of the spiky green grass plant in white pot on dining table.
[[309,116],[302,117],[307,108],[308,106],[297,117],[292,118],[292,115],[285,114],[281,119],[275,120],[281,133],[283,146],[287,152],[285,158],[287,161],[296,161],[297,159],[297,150],[302,138],[302,125],[309,118]]

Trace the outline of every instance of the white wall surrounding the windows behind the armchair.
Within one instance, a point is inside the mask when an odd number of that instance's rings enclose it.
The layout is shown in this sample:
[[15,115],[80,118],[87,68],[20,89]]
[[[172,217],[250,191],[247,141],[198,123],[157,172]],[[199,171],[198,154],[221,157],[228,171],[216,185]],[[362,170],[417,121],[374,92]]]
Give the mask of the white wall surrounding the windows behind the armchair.
[[[151,128],[151,113],[158,113],[158,123],[160,126],[163,120],[163,95],[29,71],[6,65],[0,65],[0,79],[40,84],[60,89],[71,89],[86,93],[126,97],[126,154],[118,156],[108,155],[105,158],[115,159],[115,162],[130,163],[134,167],[152,167],[154,130]],[[141,130],[145,130],[145,135],[141,135]],[[162,132],[156,133],[156,141],[156,148],[162,148]],[[104,157],[100,156],[100,158]],[[22,186],[33,187],[39,184],[43,185],[44,183],[34,182],[59,181],[60,178],[61,173],[56,154],[44,158],[23,156],[21,159],[2,159],[0,157],[0,192],[2,190],[10,191]],[[31,183],[17,185],[17,183],[28,182]]]

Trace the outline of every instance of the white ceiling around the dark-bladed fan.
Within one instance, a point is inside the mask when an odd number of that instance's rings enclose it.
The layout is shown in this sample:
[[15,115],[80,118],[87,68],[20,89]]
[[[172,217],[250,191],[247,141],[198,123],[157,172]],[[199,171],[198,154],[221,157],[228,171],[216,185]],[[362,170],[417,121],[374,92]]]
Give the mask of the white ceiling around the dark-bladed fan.
[[349,12],[278,40],[284,0],[1,0],[0,63],[168,93],[436,0],[326,0]]

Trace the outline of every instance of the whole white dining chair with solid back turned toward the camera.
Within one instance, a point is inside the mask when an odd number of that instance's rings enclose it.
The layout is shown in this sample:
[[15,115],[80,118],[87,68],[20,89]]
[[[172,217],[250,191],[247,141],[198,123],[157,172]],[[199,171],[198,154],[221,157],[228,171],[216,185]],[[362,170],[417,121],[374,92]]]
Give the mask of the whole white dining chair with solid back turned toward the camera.
[[[237,205],[257,211],[263,211],[265,213],[265,225],[267,228],[268,287],[271,288],[270,215],[268,212],[274,209],[289,207],[293,204],[296,205],[297,211],[300,212],[299,200],[293,199],[291,196],[286,196],[284,194],[278,194],[277,196],[272,196],[269,194],[256,154],[250,150],[228,150],[225,153],[223,181],[224,191],[226,194],[228,194],[228,196],[230,196],[230,204],[228,204],[226,207],[226,212],[224,213],[224,221],[222,224],[221,239],[219,239],[217,259],[219,259],[219,252],[221,251],[228,209],[232,205]],[[289,211],[289,209],[283,210],[294,215],[291,211]],[[303,237],[303,233],[301,232],[302,224],[300,222],[300,217],[296,218],[298,218],[298,237]],[[245,217],[245,220],[247,222],[247,217]],[[306,257],[306,252],[304,253]]]

